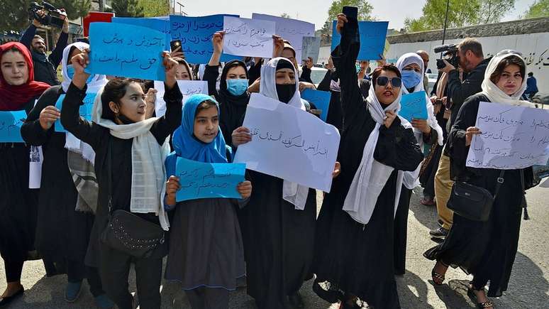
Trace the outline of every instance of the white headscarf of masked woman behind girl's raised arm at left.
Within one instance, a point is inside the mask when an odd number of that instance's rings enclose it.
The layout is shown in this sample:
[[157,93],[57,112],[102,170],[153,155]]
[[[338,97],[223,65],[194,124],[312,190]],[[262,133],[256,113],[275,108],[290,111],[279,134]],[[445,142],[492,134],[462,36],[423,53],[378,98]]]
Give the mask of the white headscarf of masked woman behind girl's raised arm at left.
[[[63,58],[61,60],[61,72],[63,75],[63,81],[61,82],[61,87],[63,88],[63,91],[65,93],[69,89],[70,83],[72,82],[69,75],[67,74],[67,64],[69,63],[70,50],[73,46],[75,48],[78,48],[79,50],[89,48],[89,45],[87,43],[77,42],[67,45],[67,47],[65,47],[65,49],[63,50]],[[88,87],[86,92],[95,93],[107,82],[109,82],[109,80],[106,79],[105,75],[94,75],[94,77],[91,78],[91,81],[87,83]],[[91,146],[89,146],[87,143],[80,141],[76,138],[76,136],[70,133],[67,133],[67,138],[65,139],[65,148],[75,153],[81,154],[82,157],[91,164],[93,164],[95,161],[95,152],[91,148]]]

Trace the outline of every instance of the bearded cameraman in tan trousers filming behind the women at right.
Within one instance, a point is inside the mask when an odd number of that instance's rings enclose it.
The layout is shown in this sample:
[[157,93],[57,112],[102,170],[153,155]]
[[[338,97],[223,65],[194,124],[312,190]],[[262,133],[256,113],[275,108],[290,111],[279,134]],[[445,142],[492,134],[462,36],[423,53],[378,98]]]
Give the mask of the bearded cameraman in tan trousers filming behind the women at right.
[[[445,67],[440,69],[441,74],[448,75],[447,86],[447,109],[451,110],[450,121],[447,124],[447,131],[450,132],[457,112],[467,97],[477,94],[482,91],[481,85],[484,80],[484,72],[490,61],[484,59],[482,53],[482,45],[474,38],[465,38],[460,45],[457,46],[457,55],[460,57],[459,67],[457,70],[448,61],[443,60]],[[460,80],[460,71],[463,72],[463,82]],[[438,98],[442,99],[442,98]],[[436,207],[439,221],[442,226],[438,229],[433,229],[429,234],[431,237],[445,238],[453,224],[453,212],[446,207],[446,203],[450,198],[453,181],[450,178],[450,158],[446,147],[443,149],[443,154],[440,156],[438,170],[435,175],[435,197]]]

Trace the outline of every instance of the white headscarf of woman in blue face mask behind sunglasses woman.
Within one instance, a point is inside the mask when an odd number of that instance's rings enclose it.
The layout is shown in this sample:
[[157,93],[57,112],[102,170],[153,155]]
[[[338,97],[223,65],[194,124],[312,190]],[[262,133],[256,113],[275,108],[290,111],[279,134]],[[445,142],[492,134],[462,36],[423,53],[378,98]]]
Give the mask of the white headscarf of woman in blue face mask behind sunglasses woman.
[[[414,87],[414,91],[412,92],[420,92],[420,91],[426,91],[423,86],[423,78],[425,77],[425,67],[423,66],[423,59],[416,54],[416,53],[405,53],[404,55],[401,55],[399,60],[397,60],[397,67],[400,72],[404,70],[404,67],[411,65],[412,63],[415,63],[421,68],[420,76],[421,80],[419,81],[418,85]],[[404,84],[402,85],[402,92],[404,94],[409,94],[410,92],[404,87]],[[443,146],[443,129],[438,124],[438,121],[435,117],[435,107],[433,107],[433,104],[431,103],[431,99],[429,99],[427,93],[425,94],[425,104],[427,107],[427,124],[431,126],[432,129],[434,129],[437,133],[437,142],[438,145]],[[414,136],[416,136],[416,140],[419,143],[419,147],[423,151],[423,132],[420,130],[414,128]],[[419,185],[419,171],[421,170],[421,164],[414,170],[413,172],[404,172],[404,185],[406,188],[414,189]]]

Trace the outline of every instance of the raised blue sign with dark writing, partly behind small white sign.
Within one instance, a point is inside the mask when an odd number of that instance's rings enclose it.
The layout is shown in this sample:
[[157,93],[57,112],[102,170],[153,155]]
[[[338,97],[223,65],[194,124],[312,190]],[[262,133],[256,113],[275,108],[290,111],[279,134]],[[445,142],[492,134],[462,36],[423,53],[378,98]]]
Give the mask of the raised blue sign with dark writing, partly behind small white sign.
[[[172,40],[181,40],[185,60],[189,63],[208,63],[214,47],[211,37],[217,31],[223,31],[223,16],[239,17],[238,15],[211,15],[187,17],[170,15],[170,32]],[[221,61],[240,59],[241,57],[223,54]]]

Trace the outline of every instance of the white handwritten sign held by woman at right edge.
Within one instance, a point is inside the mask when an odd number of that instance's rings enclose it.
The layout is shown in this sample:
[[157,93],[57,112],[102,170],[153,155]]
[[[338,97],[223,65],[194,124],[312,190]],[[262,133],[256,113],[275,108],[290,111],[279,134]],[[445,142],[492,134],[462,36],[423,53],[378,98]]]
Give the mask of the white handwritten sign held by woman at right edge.
[[467,166],[510,170],[545,165],[549,110],[480,102]]

